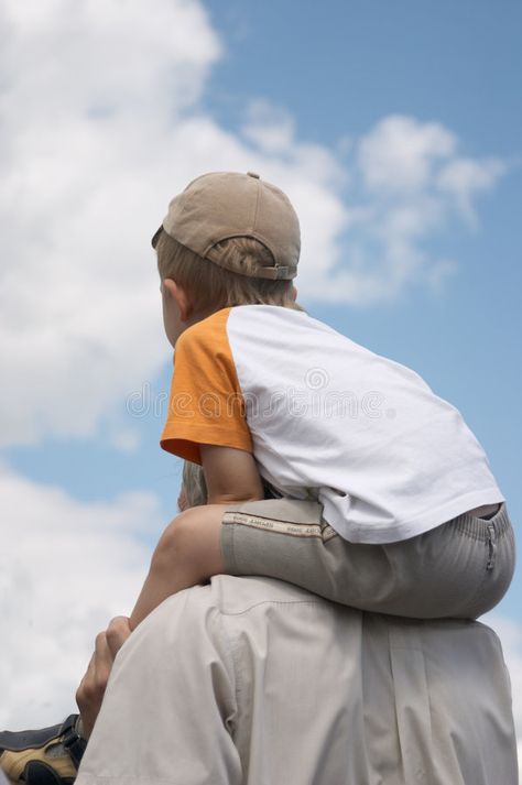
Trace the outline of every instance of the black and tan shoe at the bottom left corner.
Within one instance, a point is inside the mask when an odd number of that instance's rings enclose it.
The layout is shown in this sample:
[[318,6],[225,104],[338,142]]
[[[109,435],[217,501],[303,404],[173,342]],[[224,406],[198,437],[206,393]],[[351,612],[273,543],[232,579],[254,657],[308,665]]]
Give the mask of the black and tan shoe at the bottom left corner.
[[0,768],[12,785],[73,785],[87,742],[78,715],[41,730],[0,732]]

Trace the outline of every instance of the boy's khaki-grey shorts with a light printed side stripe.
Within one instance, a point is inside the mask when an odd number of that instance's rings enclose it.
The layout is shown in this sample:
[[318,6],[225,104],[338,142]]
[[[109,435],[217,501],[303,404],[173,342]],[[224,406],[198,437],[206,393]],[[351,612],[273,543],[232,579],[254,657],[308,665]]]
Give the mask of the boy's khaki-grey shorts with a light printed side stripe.
[[296,584],[363,611],[417,619],[477,619],[504,596],[515,546],[505,503],[490,519],[468,513],[399,543],[350,543],[297,499],[230,504],[221,550],[230,575]]

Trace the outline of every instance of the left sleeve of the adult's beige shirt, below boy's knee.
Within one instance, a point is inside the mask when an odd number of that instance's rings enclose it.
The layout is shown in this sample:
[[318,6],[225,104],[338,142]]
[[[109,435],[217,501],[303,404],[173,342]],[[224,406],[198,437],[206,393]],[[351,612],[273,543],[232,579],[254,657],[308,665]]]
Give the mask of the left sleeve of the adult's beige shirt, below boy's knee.
[[119,651],[76,785],[242,782],[232,663],[198,596],[166,600]]

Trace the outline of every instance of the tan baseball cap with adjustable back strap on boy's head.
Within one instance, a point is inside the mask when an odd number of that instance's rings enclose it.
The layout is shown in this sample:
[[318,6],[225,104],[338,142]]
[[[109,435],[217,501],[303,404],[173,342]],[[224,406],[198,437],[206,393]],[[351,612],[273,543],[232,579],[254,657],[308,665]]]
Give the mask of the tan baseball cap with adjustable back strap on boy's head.
[[213,250],[216,243],[232,237],[254,238],[272,252],[275,264],[260,264],[252,277],[291,280],[297,275],[298,218],[289,197],[254,172],[211,172],[197,177],[172,199],[152,238],[153,248],[162,231],[220,266],[225,265]]

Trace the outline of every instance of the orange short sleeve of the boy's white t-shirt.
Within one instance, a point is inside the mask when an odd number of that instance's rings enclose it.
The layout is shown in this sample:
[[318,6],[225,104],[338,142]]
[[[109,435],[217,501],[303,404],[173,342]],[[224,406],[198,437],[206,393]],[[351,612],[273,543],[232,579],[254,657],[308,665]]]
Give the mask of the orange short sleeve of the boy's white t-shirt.
[[230,308],[218,310],[182,332],[174,352],[163,449],[202,465],[199,445],[253,453],[227,336]]

